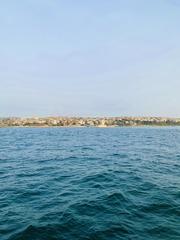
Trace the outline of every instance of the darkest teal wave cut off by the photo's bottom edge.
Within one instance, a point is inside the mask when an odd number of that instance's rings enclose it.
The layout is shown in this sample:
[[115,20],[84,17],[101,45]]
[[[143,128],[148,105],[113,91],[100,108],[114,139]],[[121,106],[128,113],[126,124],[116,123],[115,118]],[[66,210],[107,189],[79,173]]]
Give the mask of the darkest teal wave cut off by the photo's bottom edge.
[[66,224],[46,226],[28,226],[24,231],[13,235],[9,240],[85,240],[85,239],[121,239],[132,233],[129,226],[116,224],[100,230],[89,227],[83,223],[77,223],[70,219]]

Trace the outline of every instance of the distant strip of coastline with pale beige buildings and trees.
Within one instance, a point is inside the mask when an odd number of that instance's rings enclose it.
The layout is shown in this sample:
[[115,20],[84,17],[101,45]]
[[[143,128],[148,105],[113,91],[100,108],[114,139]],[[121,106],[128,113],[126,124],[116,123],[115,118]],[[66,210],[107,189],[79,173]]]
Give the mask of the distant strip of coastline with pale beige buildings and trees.
[[0,118],[0,127],[122,127],[180,126],[180,118],[165,117],[31,117]]

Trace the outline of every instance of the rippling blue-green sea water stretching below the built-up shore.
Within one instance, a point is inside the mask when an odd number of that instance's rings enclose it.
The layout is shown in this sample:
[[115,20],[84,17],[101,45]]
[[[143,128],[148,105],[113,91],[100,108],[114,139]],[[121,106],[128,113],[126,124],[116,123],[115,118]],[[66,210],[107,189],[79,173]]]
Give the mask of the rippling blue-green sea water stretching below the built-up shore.
[[180,128],[0,129],[1,240],[180,239]]

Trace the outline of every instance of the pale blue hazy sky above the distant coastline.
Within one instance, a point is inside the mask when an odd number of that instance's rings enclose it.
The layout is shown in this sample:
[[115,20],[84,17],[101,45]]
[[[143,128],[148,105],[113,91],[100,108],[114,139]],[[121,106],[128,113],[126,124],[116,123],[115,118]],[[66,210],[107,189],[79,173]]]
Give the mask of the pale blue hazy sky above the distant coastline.
[[179,0],[7,0],[0,117],[180,117]]

